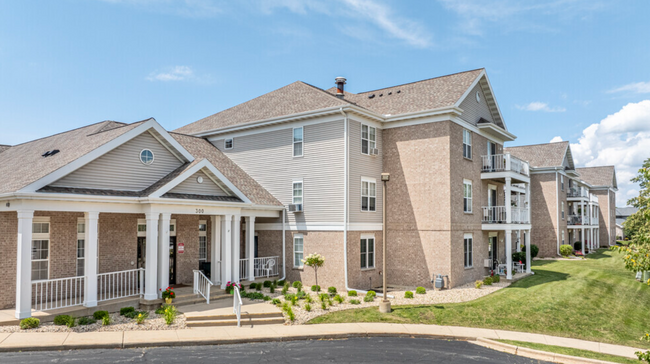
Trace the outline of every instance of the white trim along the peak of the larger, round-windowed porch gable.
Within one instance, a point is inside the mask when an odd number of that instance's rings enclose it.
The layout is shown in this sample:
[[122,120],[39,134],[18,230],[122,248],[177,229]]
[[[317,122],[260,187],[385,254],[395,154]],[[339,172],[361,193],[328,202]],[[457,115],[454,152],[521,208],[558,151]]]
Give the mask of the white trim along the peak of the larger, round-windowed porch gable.
[[[129,140],[137,137],[138,135],[147,132],[150,129],[154,129],[161,137],[165,139],[172,147],[174,147],[177,151],[178,154],[182,156],[182,158],[185,158],[187,162],[192,162],[194,161],[194,156],[190,154],[185,148],[183,148],[177,141],[176,139],[172,138],[167,131],[158,124],[156,119],[151,118],[148,119],[147,121],[143,122],[141,125],[138,125],[137,127],[133,128],[133,130],[130,130],[119,137],[109,141],[108,143],[105,143],[98,148],[90,151],[88,154],[81,156],[80,158],[77,158],[76,160],[66,164],[65,166],[57,169],[56,171],[46,175],[45,177],[30,183],[29,185],[21,188],[17,192],[36,192],[37,190],[67,176],[68,174],[76,171],[77,169],[85,166],[86,164],[94,161],[95,159],[103,156],[104,154],[110,152],[111,150],[119,147],[120,145],[128,142]],[[162,143],[163,146],[164,143]],[[178,154],[174,154],[178,157]]]

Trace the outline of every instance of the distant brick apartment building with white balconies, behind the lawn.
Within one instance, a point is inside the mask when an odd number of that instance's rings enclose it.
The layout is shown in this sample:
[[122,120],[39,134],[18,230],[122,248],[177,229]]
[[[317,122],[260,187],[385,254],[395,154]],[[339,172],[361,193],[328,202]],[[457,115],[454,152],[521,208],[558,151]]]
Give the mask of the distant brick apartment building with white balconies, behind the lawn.
[[[540,257],[581,242],[583,254],[615,241],[614,166],[576,168],[569,142],[506,148],[530,163],[532,228]],[[610,228],[611,227],[611,228]]]

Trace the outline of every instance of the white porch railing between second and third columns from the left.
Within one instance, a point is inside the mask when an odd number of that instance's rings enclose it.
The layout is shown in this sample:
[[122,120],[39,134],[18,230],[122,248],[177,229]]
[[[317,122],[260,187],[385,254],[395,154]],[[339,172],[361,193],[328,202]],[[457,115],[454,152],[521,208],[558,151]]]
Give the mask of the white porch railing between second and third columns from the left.
[[98,302],[143,294],[144,268],[97,275]]

